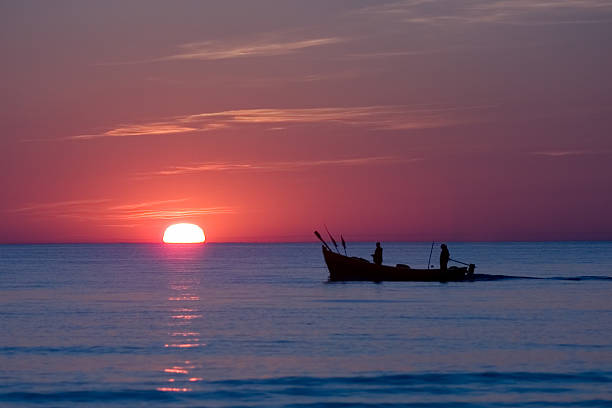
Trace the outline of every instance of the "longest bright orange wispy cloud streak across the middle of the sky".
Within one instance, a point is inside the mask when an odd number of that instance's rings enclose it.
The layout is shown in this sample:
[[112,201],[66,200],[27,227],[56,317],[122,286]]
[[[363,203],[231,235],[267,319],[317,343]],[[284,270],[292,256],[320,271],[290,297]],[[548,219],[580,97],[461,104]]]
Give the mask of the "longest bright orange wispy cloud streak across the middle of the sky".
[[[99,134],[72,136],[69,140],[102,137],[152,136],[195,131],[213,131],[245,125],[287,127],[291,124],[328,123],[381,130],[427,129],[484,120],[488,105],[448,106],[360,106],[324,108],[237,109],[176,116],[165,121],[121,125]],[[280,126],[282,125],[282,126]]]

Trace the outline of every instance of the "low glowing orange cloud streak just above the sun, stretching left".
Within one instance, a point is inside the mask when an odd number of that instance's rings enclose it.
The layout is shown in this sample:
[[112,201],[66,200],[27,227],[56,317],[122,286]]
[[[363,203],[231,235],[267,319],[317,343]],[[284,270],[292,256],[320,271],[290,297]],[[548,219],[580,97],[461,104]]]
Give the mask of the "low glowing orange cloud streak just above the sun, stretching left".
[[30,204],[12,210],[26,213],[33,217],[70,218],[87,221],[105,222],[106,226],[128,227],[136,224],[125,224],[122,221],[134,222],[145,220],[174,220],[193,218],[208,214],[231,214],[230,207],[193,207],[177,205],[188,201],[188,198],[159,200],[110,205],[110,199],[59,201],[42,204]]

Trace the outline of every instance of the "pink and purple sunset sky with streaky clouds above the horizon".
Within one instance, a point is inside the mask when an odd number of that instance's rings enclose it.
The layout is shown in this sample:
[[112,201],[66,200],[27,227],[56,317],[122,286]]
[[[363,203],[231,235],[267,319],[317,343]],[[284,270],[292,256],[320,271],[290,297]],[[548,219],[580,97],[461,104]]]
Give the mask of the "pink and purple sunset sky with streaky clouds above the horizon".
[[0,1],[0,243],[612,239],[609,0]]

